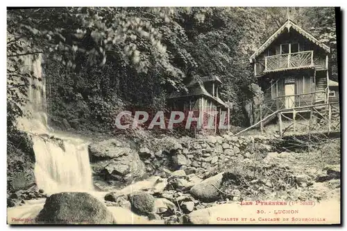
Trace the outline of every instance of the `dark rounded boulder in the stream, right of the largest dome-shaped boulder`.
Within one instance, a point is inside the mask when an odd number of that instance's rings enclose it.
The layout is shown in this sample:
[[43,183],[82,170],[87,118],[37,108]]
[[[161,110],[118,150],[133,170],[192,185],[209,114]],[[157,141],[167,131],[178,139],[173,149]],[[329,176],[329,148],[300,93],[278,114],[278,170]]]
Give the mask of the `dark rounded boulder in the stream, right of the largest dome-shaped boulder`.
[[132,193],[129,195],[131,207],[138,214],[150,214],[153,212],[155,198],[144,191]]

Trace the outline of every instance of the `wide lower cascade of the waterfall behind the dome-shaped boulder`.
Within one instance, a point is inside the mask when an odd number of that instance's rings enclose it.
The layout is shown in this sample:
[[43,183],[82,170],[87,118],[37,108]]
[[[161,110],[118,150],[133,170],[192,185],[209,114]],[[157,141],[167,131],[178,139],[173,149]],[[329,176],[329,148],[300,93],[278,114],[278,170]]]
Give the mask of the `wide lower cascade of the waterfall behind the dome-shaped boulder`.
[[39,188],[49,192],[91,191],[92,173],[85,143],[65,140],[45,141],[33,137],[35,180]]

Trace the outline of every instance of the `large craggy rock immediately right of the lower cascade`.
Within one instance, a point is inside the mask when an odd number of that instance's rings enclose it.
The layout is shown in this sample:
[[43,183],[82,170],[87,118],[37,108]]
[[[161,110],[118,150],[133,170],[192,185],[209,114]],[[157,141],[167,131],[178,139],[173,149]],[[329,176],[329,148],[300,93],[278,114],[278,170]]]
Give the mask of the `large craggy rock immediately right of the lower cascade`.
[[122,145],[116,139],[90,144],[90,164],[99,188],[108,189],[108,184],[121,187],[144,177],[146,170],[139,154]]

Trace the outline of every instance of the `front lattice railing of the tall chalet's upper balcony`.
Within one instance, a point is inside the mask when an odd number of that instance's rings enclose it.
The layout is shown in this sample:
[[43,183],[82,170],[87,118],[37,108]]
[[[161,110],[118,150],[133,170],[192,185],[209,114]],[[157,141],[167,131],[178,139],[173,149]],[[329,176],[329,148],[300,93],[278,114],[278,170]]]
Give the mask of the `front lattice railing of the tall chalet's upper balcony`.
[[275,56],[266,56],[264,72],[313,66],[313,51],[301,51],[291,54],[278,54]]

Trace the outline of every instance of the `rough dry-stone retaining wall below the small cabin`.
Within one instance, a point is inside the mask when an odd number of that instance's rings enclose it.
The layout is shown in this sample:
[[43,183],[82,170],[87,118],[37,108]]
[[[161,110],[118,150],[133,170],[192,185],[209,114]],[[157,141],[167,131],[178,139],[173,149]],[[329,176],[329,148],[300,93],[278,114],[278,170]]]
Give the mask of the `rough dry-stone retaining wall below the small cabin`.
[[[248,161],[271,152],[270,136],[201,136],[155,139],[139,148],[139,157],[151,175],[162,171],[209,170],[226,161]],[[162,146],[160,148],[160,146]],[[164,175],[163,175],[164,177]]]

